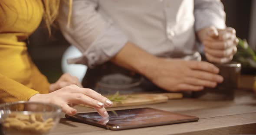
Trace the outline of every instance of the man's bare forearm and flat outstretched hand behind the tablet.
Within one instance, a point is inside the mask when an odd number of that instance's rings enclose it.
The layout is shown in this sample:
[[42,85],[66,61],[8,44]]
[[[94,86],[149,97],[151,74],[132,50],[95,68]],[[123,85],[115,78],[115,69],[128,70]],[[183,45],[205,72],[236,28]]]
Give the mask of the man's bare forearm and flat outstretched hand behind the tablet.
[[168,91],[203,90],[223,82],[219,69],[208,62],[159,58],[128,42],[112,62],[147,77]]

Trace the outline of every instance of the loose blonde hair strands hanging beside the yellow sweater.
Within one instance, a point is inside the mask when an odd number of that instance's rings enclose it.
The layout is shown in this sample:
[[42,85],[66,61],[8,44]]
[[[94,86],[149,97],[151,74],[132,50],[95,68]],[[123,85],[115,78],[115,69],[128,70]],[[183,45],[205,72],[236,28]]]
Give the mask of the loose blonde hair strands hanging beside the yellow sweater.
[[[49,36],[52,34],[51,32],[51,26],[54,25],[54,21],[56,20],[57,16],[59,15],[59,6],[61,3],[61,0],[42,0],[44,5],[44,15],[43,18],[46,23],[46,27],[49,32]],[[70,25],[70,19],[72,14],[72,0],[69,0],[67,2],[66,0],[63,0],[64,4],[69,4],[69,14],[68,14],[68,26]]]

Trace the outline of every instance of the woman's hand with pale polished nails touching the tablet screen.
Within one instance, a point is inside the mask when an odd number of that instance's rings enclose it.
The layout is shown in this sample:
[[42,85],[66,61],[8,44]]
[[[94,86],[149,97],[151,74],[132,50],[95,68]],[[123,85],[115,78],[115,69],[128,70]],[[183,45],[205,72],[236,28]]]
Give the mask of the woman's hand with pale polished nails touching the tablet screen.
[[76,85],[63,87],[48,94],[36,94],[29,101],[53,103],[61,106],[62,111],[68,115],[75,115],[76,110],[69,104],[84,104],[91,106],[104,118],[108,117],[105,107],[112,106],[112,102],[91,89],[81,88]]

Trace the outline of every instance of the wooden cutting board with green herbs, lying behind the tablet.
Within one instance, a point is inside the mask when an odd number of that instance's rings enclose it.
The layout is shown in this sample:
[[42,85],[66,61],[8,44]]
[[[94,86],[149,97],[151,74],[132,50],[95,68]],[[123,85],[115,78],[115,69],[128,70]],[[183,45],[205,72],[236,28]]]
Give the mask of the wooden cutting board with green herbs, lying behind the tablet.
[[182,93],[131,94],[128,96],[127,99],[122,100],[121,102],[113,102],[114,105],[112,107],[140,106],[155,103],[164,103],[168,100],[181,99],[182,97]]

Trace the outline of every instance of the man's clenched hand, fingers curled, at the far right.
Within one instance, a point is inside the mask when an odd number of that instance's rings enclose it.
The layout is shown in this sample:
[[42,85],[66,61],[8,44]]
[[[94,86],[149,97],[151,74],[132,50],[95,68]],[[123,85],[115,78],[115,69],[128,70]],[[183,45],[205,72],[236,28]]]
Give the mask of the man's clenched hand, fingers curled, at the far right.
[[197,32],[198,38],[203,43],[205,56],[213,63],[226,63],[236,54],[238,39],[236,30],[230,27],[216,29],[207,27]]

